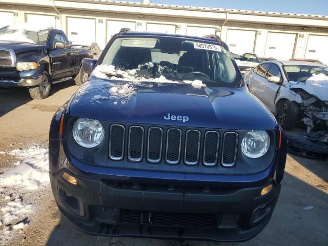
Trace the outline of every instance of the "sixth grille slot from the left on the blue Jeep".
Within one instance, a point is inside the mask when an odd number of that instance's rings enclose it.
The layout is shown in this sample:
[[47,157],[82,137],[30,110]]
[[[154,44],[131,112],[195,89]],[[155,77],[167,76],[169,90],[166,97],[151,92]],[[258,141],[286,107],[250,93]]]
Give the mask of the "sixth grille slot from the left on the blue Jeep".
[[203,163],[204,166],[213,167],[217,163],[219,153],[220,134],[215,131],[205,133]]

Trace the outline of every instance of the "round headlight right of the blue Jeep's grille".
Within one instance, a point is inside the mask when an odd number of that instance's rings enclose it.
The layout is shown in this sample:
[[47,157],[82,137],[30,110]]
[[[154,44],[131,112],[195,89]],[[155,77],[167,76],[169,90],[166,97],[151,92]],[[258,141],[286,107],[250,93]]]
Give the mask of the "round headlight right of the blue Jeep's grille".
[[270,136],[266,131],[249,131],[241,142],[241,151],[250,158],[259,158],[268,152]]

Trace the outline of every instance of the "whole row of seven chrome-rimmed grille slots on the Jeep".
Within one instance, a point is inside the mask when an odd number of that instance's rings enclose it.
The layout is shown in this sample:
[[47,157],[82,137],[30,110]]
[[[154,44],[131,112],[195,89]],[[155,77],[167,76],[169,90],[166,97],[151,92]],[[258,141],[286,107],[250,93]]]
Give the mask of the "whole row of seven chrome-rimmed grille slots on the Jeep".
[[[111,125],[110,159],[122,160],[127,156],[129,161],[138,162],[144,158],[145,154],[146,160],[150,163],[159,163],[163,159],[170,165],[177,165],[182,161],[188,166],[202,163],[204,166],[213,167],[219,162],[220,133],[217,131],[206,131],[202,134],[194,129],[187,130],[185,133],[177,128],[170,128],[166,133],[160,127],[150,127],[146,130],[145,134],[141,126],[126,128],[122,125]],[[126,134],[128,134],[127,137]],[[127,144],[125,144],[126,141]],[[220,159],[222,166],[235,165],[237,145],[237,133],[223,134]]]

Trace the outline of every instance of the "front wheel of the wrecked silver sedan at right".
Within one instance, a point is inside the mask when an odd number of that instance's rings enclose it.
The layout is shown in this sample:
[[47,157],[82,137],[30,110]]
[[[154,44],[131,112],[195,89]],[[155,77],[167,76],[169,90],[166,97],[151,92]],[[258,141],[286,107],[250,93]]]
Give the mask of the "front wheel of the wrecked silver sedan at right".
[[277,106],[277,121],[283,130],[292,130],[298,119],[299,108],[294,101],[284,100]]

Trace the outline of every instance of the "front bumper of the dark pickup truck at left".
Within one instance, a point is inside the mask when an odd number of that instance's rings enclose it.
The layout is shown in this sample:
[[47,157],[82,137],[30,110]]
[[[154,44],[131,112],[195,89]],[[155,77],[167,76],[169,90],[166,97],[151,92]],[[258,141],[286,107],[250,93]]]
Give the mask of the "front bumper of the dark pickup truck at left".
[[28,71],[2,71],[0,72],[0,87],[32,87],[42,83],[43,67]]

